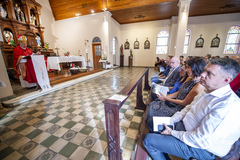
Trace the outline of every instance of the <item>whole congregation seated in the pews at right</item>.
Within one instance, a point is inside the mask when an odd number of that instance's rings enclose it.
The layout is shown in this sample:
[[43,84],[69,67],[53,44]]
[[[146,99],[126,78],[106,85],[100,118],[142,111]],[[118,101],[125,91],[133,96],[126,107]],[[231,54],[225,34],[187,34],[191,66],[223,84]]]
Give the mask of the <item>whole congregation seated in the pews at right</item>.
[[[210,54],[183,58],[168,56],[169,69],[151,78],[152,102],[145,116],[150,133],[143,145],[154,160],[169,160],[168,154],[229,159],[240,135],[239,58]],[[168,87],[168,94],[156,93],[158,86]],[[153,117],[171,117],[174,128],[163,123],[163,130],[154,130]]]

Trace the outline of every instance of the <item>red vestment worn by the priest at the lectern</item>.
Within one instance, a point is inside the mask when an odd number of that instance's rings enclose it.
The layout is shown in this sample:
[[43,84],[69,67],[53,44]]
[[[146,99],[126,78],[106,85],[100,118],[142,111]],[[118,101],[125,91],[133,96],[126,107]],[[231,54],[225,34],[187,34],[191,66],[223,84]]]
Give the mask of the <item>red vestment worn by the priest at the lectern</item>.
[[[13,49],[13,69],[17,72],[18,77],[21,75],[19,70],[19,62],[22,59],[22,56],[30,56],[32,55],[32,53],[33,52],[29,48],[22,49],[19,45]],[[25,63],[25,66],[26,76],[23,76],[23,79],[28,83],[36,83],[37,78],[33,68],[32,60],[27,59],[27,63]]]

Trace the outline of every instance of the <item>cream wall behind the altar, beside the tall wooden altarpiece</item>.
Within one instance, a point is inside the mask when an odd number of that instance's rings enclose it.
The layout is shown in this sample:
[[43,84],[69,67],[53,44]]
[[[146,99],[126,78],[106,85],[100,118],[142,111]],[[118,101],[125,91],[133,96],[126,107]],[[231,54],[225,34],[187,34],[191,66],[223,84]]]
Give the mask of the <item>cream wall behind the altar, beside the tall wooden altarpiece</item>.
[[71,55],[78,55],[78,50],[80,50],[80,54],[86,59],[85,40],[89,40],[89,45],[87,46],[88,58],[93,62],[93,38],[96,36],[99,37],[104,49],[108,45],[108,22],[103,21],[106,14],[99,13],[56,21],[60,55],[63,56],[66,51],[69,51]]

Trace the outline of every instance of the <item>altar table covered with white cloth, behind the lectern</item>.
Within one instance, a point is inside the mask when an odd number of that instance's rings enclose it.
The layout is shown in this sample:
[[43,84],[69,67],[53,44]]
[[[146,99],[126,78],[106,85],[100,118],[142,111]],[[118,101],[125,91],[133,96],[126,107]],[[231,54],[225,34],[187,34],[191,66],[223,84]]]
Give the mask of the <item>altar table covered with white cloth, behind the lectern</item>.
[[86,67],[85,58],[83,56],[64,56],[64,57],[48,57],[47,70],[50,69],[62,71],[63,64],[74,65],[75,67]]

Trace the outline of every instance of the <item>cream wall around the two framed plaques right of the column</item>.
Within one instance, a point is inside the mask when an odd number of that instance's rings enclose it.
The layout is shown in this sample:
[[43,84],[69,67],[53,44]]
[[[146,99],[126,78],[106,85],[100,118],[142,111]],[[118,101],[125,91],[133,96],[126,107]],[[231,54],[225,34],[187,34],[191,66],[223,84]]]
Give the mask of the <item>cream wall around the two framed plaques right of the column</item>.
[[[224,57],[223,54],[227,32],[233,25],[240,25],[240,13],[235,14],[221,14],[212,16],[199,16],[190,17],[188,21],[188,28],[191,30],[191,43],[188,55],[212,54],[213,56],[219,55]],[[204,39],[203,48],[195,48],[196,40],[202,34]],[[211,42],[214,37],[220,38],[220,45],[218,48],[211,48]],[[229,56],[232,56],[230,54]]]

